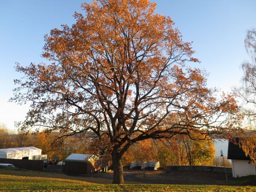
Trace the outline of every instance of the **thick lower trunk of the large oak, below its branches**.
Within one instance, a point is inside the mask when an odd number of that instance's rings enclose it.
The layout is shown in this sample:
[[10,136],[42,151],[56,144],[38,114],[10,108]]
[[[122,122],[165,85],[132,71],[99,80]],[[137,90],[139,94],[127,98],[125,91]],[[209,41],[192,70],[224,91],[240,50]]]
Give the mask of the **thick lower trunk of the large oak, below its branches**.
[[112,152],[112,164],[114,174],[113,184],[124,184],[122,160],[118,155],[118,149],[115,147]]

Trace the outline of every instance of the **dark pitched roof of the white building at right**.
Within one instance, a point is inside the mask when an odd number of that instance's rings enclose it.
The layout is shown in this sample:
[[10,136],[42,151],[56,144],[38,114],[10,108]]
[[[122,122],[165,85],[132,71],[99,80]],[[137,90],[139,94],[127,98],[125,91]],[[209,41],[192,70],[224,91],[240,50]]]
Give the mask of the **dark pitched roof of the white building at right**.
[[[235,138],[236,143],[239,143],[239,138]],[[245,152],[240,148],[238,144],[234,144],[229,140],[228,144],[228,159],[234,160],[250,160],[249,157],[245,155]]]

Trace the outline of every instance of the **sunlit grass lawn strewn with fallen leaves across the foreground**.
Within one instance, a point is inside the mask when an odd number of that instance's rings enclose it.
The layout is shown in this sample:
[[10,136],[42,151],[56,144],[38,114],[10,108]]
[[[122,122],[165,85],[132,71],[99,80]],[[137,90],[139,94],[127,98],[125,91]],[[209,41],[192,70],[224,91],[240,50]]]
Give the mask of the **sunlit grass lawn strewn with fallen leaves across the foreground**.
[[104,178],[0,168],[0,191],[256,191],[253,186],[112,185],[96,184],[95,180],[109,182]]

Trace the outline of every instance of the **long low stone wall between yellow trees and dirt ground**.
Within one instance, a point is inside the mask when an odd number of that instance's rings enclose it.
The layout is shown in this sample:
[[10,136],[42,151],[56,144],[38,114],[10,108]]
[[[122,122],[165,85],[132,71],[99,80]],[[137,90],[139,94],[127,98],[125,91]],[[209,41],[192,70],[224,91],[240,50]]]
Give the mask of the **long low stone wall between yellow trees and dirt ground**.
[[[166,165],[166,171],[209,171],[225,173],[224,167],[203,165]],[[226,167],[226,172],[232,174],[232,168]]]

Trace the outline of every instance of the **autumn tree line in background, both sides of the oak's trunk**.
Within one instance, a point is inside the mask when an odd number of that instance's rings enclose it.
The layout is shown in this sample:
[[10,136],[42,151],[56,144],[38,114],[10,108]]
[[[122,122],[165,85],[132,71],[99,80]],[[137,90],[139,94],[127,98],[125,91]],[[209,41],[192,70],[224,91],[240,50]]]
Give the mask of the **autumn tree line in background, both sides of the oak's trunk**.
[[[87,135],[68,137],[60,142],[55,141],[57,132],[25,133],[11,132],[4,124],[0,126],[0,148],[16,148],[36,146],[42,149],[52,159],[58,156],[64,160],[71,153],[99,155],[107,142],[99,142],[97,138],[88,138]],[[199,135],[197,135],[199,139]],[[101,151],[100,151],[101,150]],[[186,135],[176,135],[171,139],[146,139],[133,144],[124,154],[123,166],[129,167],[133,161],[160,161],[160,166],[166,165],[217,165],[223,166],[223,160],[215,156],[212,140],[191,140]],[[105,154],[111,159],[110,154]],[[231,166],[225,158],[225,165]]]

